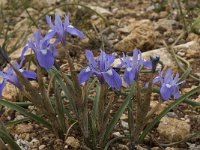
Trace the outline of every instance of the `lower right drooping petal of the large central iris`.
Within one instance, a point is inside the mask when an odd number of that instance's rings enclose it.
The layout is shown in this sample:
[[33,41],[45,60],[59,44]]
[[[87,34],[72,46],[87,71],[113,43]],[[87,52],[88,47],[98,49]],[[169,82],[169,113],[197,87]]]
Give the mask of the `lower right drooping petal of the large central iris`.
[[114,69],[110,69],[102,74],[108,85],[110,85],[112,88],[120,89],[122,80],[120,75]]

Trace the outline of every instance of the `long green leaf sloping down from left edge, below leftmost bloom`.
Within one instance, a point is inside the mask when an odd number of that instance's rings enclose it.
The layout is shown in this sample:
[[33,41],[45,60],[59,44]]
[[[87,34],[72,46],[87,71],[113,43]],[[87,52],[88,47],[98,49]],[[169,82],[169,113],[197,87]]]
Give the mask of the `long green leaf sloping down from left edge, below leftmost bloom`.
[[22,107],[20,107],[16,104],[13,104],[12,102],[1,99],[0,105],[3,105],[3,106],[6,106],[8,108],[11,108],[13,110],[16,110],[16,111],[20,112],[21,114],[23,114],[24,116],[27,116],[27,117],[33,119],[34,121],[41,123],[46,128],[52,129],[51,125],[47,121],[45,121],[43,118],[41,118],[41,117],[39,117],[39,116],[37,116],[33,113],[28,112],[26,109],[24,109],[24,108],[22,108]]

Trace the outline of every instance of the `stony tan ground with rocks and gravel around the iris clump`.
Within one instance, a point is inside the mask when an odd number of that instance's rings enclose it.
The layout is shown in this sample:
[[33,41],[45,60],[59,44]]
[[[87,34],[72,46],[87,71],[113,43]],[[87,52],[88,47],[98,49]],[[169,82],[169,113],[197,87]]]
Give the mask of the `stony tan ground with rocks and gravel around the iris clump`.
[[[121,54],[131,53],[137,47],[141,49],[144,57],[152,54],[160,55],[165,65],[181,73],[181,69],[170,53],[169,46],[173,45],[175,53],[190,63],[191,73],[196,78],[200,78],[199,5],[198,0],[190,1],[188,5],[181,3],[181,11],[183,11],[181,14],[177,1],[173,0],[21,0],[20,2],[0,0],[0,45],[5,44],[10,57],[17,59],[27,37],[36,31],[37,26],[42,32],[48,29],[45,22],[46,14],[58,13],[64,16],[65,13],[70,13],[72,24],[86,35],[83,40],[74,37],[68,39],[67,48],[74,58],[77,70],[86,65],[84,57],[86,48],[92,49],[96,54],[99,53],[99,48],[110,53]],[[58,62],[65,66],[64,50],[60,48],[59,51]],[[3,65],[3,62],[0,63]],[[185,68],[184,65],[181,67]],[[63,69],[67,70],[67,67]],[[199,83],[199,80],[188,77],[181,90],[182,93],[199,86]],[[16,89],[11,85],[6,87],[3,96],[11,101],[17,101],[19,98]],[[157,97],[156,94],[153,95],[152,107],[156,105]],[[197,94],[191,99],[200,102],[200,96]],[[171,102],[163,102],[159,111]],[[23,118],[18,112],[1,106],[0,109],[0,118],[5,123]],[[33,106],[27,109],[36,110]],[[27,145],[30,149],[84,149],[80,134],[73,129],[65,141],[56,139],[51,131],[32,121],[9,126],[9,130],[18,143]],[[126,130],[125,112],[112,137],[120,136]],[[148,134],[145,143],[137,149],[198,150],[200,149],[199,137],[171,147],[159,145],[159,143],[183,140],[188,134],[197,131],[200,131],[200,110],[198,107],[183,103],[169,112]],[[127,140],[117,141],[110,146],[110,149],[126,150],[129,149],[127,144]]]

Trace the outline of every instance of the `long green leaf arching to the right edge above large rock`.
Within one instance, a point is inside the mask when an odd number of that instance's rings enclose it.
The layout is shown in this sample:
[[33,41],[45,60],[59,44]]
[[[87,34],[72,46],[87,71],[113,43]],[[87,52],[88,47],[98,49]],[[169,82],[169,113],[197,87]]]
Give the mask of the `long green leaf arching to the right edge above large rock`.
[[181,96],[179,99],[175,100],[171,105],[169,105],[166,109],[164,109],[150,124],[142,132],[139,137],[138,143],[142,143],[145,136],[151,131],[151,129],[160,121],[162,117],[164,117],[171,109],[178,106],[181,102],[183,102],[186,98],[192,96],[193,94],[200,91],[200,86]]

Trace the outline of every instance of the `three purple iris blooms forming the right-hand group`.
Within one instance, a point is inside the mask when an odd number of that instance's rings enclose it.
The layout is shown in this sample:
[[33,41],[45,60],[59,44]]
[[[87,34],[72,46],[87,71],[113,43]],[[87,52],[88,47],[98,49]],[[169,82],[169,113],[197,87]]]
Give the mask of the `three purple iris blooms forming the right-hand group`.
[[[112,67],[115,54],[106,54],[104,51],[101,51],[100,56],[95,60],[93,53],[90,50],[86,50],[86,58],[88,59],[88,66],[79,74],[79,82],[81,84],[95,74],[100,82],[106,82],[112,88],[120,89],[122,86],[121,76]],[[153,61],[143,59],[138,49],[133,50],[132,58],[123,54],[123,58],[120,58],[120,60],[121,64],[117,68],[125,67],[123,78],[125,83],[129,86],[132,84],[133,80],[137,80],[141,66],[147,68],[153,67]],[[184,82],[178,81],[179,74],[177,73],[176,76],[173,77],[173,72],[169,68],[164,77],[163,71],[159,71],[159,76],[153,79],[153,84],[156,82],[161,84],[160,94],[163,100],[168,100],[171,96],[177,99],[180,97],[179,85]]]

